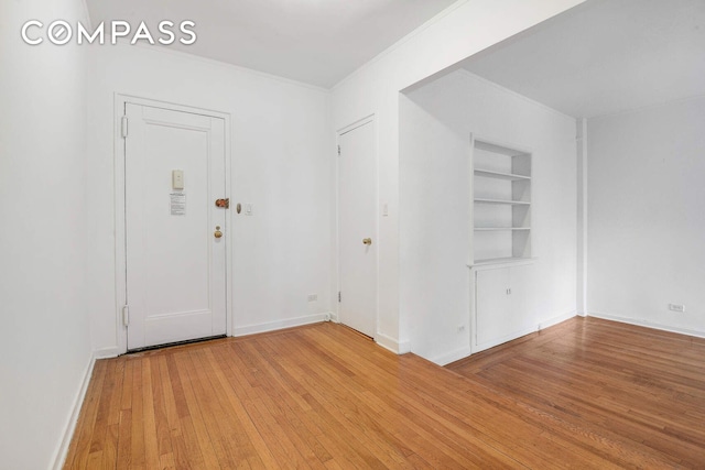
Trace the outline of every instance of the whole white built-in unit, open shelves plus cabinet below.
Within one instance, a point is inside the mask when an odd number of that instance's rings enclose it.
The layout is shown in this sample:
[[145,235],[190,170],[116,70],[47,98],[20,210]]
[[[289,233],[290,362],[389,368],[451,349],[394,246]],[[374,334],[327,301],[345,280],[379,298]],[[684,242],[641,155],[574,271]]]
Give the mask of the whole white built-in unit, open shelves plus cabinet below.
[[470,345],[477,352],[516,338],[517,325],[530,316],[534,206],[531,152],[474,135],[470,142]]

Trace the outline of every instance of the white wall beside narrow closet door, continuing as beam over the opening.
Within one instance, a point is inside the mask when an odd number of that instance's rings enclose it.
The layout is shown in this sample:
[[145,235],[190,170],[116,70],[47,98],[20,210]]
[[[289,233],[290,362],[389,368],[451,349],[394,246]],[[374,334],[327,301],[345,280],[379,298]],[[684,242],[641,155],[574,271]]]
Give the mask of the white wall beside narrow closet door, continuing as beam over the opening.
[[334,88],[334,130],[372,113],[378,125],[380,206],[389,204],[379,223],[377,339],[384,346],[408,351],[410,338],[399,308],[399,91],[582,2],[459,1]]

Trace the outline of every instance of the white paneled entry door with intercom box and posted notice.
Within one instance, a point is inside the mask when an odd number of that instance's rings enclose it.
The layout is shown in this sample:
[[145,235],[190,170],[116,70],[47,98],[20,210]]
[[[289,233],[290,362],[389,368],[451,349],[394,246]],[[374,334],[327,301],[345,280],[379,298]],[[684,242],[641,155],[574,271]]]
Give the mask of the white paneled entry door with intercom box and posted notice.
[[225,121],[124,111],[128,349],[225,335]]

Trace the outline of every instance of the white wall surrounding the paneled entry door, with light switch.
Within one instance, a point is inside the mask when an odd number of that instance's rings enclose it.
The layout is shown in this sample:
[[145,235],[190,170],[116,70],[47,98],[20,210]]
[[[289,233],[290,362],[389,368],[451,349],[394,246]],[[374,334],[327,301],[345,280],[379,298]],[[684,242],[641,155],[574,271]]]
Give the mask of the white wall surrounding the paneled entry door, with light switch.
[[[119,351],[115,274],[116,92],[230,113],[235,334],[321,320],[330,311],[333,155],[327,92],[251,70],[149,47],[93,51],[87,285],[94,348]],[[253,216],[235,214],[251,203]],[[317,294],[317,304],[307,303]]]

